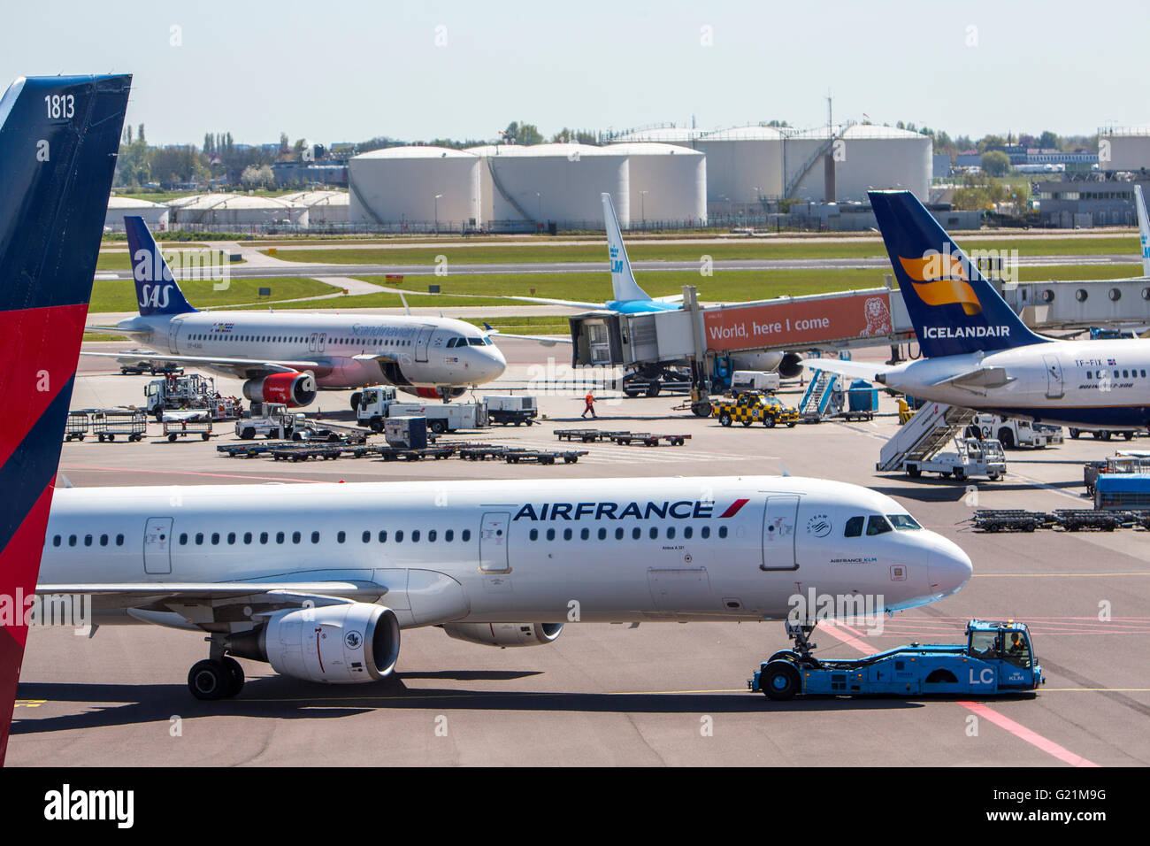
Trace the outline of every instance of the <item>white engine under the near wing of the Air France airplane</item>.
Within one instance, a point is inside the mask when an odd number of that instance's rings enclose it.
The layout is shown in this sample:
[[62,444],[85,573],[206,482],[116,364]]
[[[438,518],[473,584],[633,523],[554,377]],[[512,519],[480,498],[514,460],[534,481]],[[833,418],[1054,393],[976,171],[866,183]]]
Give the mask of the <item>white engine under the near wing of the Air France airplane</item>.
[[276,611],[259,631],[230,638],[227,649],[307,681],[378,681],[396,669],[399,620],[368,602]]

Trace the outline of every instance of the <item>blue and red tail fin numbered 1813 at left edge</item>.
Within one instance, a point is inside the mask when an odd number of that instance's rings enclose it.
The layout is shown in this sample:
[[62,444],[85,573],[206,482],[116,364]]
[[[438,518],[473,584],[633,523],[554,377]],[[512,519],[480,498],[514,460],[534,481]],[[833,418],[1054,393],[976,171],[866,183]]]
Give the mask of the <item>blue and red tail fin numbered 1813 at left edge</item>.
[[0,98],[0,763],[130,87],[21,78]]

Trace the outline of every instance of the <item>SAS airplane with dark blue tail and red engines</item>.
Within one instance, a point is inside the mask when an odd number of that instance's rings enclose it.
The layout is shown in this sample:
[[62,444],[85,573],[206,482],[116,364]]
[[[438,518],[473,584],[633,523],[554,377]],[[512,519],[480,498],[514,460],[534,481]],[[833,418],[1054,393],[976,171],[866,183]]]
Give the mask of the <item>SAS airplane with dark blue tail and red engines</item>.
[[[503,375],[491,338],[462,320],[381,314],[197,311],[184,298],[152,234],[125,216],[139,317],[114,327],[167,352],[133,358],[178,361],[245,380],[252,401],[309,405],[317,389],[393,384],[450,398]],[[84,352],[120,358],[123,353]]]

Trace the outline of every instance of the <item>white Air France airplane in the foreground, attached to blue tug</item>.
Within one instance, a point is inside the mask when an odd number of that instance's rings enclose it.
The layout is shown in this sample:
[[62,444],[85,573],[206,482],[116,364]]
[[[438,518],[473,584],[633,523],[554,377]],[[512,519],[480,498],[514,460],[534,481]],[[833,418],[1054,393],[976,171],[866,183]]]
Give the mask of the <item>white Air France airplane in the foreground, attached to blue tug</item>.
[[780,620],[812,592],[898,610],[969,577],[954,543],[854,485],[483,480],[68,488],[37,592],[92,595],[98,625],[207,633],[189,687],[222,699],[244,683],[232,656],[369,683],[402,628],[535,646],[567,620]]

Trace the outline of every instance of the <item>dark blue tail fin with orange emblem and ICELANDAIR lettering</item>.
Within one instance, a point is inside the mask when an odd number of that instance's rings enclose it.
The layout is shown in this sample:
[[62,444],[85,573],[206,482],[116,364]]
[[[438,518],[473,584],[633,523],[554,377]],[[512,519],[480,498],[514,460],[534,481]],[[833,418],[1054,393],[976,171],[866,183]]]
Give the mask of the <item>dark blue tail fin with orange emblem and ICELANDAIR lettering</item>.
[[927,358],[1048,341],[1011,311],[910,191],[869,191],[919,346]]

